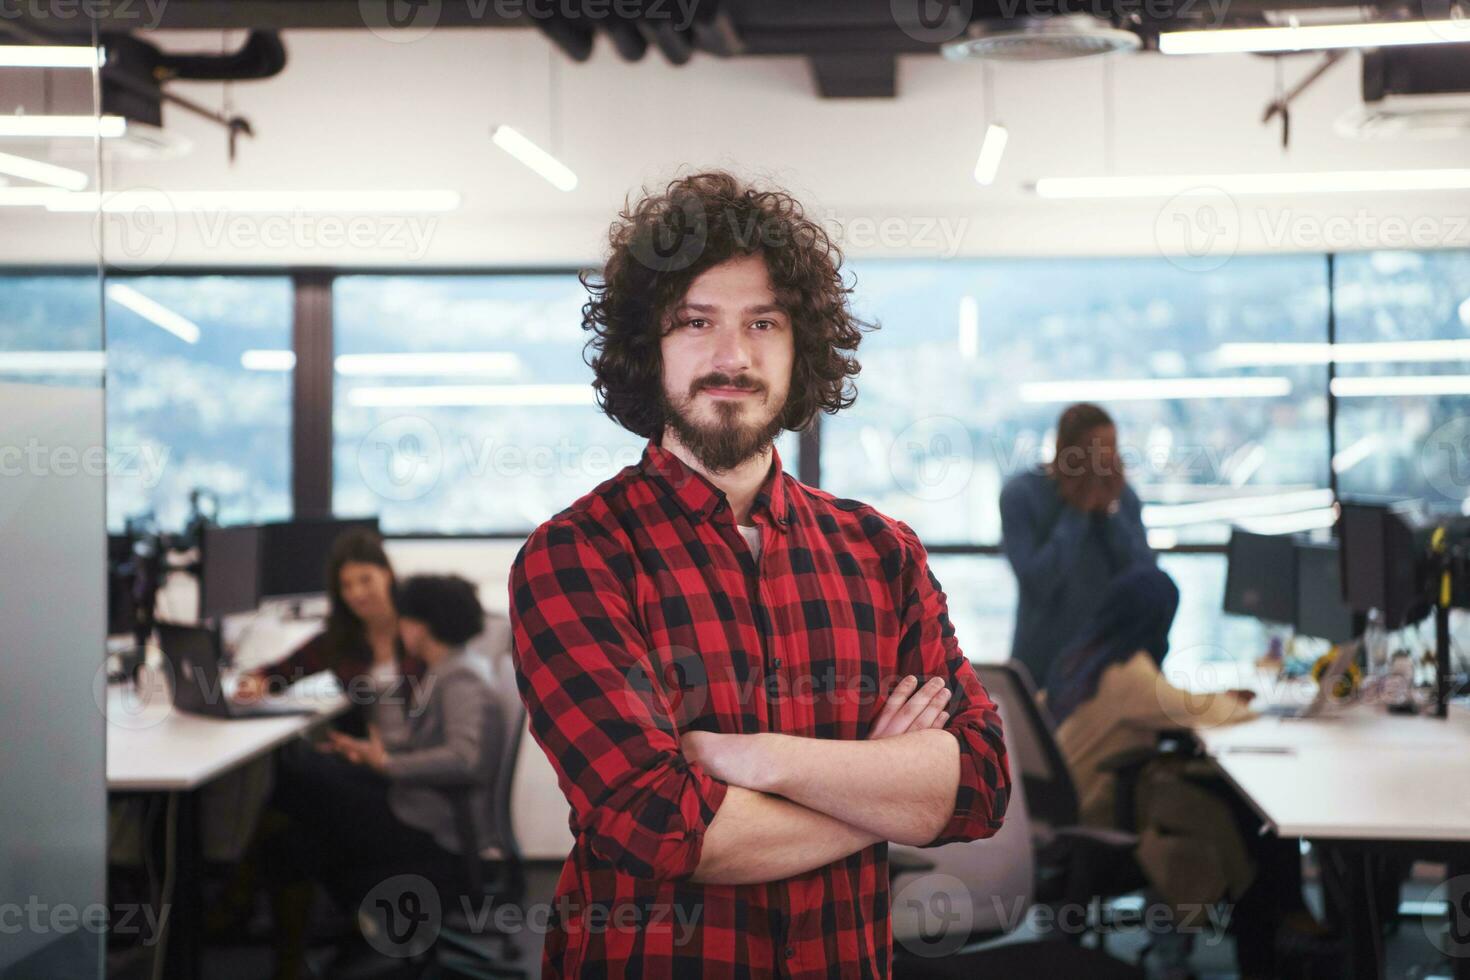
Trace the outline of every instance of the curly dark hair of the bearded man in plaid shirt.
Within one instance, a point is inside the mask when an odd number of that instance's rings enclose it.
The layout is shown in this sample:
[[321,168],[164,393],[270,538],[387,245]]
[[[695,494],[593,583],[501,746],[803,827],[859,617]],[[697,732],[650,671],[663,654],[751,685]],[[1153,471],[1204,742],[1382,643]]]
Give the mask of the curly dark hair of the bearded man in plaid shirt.
[[666,407],[660,341],[664,319],[706,270],[760,254],[776,300],[791,314],[795,363],[781,417],[784,429],[806,429],[817,411],[835,414],[857,398],[850,381],[861,366],[851,356],[861,331],[842,253],[823,228],[784,191],[757,190],[723,170],[670,181],[663,194],[623,203],[609,232],[601,273],[582,273],[591,300],[582,329],[597,403],[625,429],[653,438]]

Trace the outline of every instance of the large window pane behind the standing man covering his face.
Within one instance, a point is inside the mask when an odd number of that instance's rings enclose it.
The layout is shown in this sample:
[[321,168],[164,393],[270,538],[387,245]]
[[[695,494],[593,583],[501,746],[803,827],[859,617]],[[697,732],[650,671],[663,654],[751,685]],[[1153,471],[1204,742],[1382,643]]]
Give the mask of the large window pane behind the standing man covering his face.
[[[856,262],[858,400],[823,419],[822,482],[928,544],[1000,541],[1007,478],[1072,401],[1117,419],[1158,545],[1223,542],[1232,519],[1330,514],[1326,367],[1257,345],[1326,339],[1320,256]],[[1299,513],[1288,514],[1299,519]]]

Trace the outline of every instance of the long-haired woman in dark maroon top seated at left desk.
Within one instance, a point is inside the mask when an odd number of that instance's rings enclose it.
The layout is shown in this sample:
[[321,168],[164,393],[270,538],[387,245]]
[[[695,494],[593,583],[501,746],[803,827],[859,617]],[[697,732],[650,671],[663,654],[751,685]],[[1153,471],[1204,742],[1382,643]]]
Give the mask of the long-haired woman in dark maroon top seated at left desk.
[[373,691],[395,677],[420,677],[423,661],[404,649],[394,607],[394,573],[382,538],[366,529],[344,532],[332,542],[326,567],[331,611],[326,626],[284,660],[240,677],[237,698],[278,693],[290,685],[331,670],[351,701],[335,727],[366,735]]

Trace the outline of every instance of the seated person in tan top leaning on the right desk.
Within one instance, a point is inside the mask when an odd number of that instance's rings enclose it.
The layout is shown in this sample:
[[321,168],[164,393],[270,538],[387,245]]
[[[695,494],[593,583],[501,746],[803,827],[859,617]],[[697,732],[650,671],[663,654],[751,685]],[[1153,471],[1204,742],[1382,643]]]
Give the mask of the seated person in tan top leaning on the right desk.
[[[1179,589],[1164,572],[1152,564],[1125,572],[1047,676],[1042,698],[1085,824],[1116,823],[1116,780],[1102,768],[1108,757],[1152,748],[1164,732],[1255,717],[1252,692],[1194,693],[1163,674],[1177,607]],[[1263,837],[1248,804],[1202,758],[1151,761],[1133,802],[1136,826],[1123,829],[1138,832],[1139,867],[1173,912],[1175,934],[1160,946],[1186,955],[1208,926],[1204,909],[1227,902],[1241,977],[1286,976],[1276,961],[1277,929],[1322,932],[1302,899],[1297,840]]]

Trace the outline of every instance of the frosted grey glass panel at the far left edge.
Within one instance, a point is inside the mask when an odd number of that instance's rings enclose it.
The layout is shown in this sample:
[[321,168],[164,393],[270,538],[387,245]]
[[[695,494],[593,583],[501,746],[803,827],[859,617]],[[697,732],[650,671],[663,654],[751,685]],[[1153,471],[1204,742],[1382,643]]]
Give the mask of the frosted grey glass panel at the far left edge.
[[0,383],[0,977],[101,976],[101,445],[100,386]]

